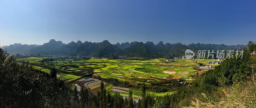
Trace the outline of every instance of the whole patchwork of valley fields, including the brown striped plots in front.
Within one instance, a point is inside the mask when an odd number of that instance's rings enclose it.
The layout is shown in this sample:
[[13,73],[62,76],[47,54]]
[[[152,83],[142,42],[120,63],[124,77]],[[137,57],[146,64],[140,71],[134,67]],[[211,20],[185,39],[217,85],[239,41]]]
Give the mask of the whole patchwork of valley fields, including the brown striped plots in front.
[[[197,67],[197,63],[209,65],[206,59],[174,59],[174,62],[166,62],[167,59],[145,59],[143,60],[127,60],[117,59],[110,60],[107,58],[91,58],[89,60],[74,61],[72,59],[53,60],[42,62],[44,58],[18,58],[20,63],[26,62],[33,64],[33,67],[50,73],[50,68],[55,67],[59,70],[57,78],[66,82],[73,81],[88,73],[94,72],[94,76],[104,79],[114,78],[119,81],[128,81],[130,85],[136,86],[145,82],[146,85],[151,85],[152,82],[159,82],[163,80],[174,80],[182,78],[184,81],[193,82],[194,76],[204,73]],[[129,58],[136,59],[136,58]],[[211,64],[216,66],[218,64]],[[77,88],[87,88],[90,92],[96,94],[100,90],[100,80],[95,78],[83,78],[81,80],[72,82],[71,84]],[[116,87],[109,83],[104,83],[104,87],[110,94],[116,92],[122,96],[128,95],[128,88]],[[138,89],[131,89],[133,96],[140,98],[141,91]],[[174,93],[175,90],[166,91],[163,93],[150,92],[147,94],[154,96],[164,96]]]

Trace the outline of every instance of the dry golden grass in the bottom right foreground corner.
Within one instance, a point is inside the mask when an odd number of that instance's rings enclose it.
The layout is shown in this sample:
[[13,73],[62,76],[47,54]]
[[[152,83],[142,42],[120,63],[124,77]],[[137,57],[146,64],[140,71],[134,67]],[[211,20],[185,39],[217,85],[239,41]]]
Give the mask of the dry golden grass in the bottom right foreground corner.
[[196,99],[189,107],[183,108],[256,108],[256,84],[254,79],[243,85],[221,88],[223,97],[217,102],[212,102],[202,93],[208,102]]

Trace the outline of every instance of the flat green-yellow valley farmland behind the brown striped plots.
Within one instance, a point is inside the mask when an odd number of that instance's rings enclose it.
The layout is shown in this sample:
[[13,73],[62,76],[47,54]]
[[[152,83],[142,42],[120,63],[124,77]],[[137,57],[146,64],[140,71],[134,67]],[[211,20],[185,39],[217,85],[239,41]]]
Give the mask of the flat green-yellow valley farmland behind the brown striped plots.
[[[159,81],[159,79],[183,78],[193,81],[189,76],[196,74],[200,70],[197,63],[208,65],[205,59],[174,59],[174,62],[166,62],[167,59],[145,59],[145,60],[110,60],[107,58],[91,58],[89,60],[73,61],[55,60],[51,62],[41,62],[44,58],[18,58],[20,62],[33,63],[36,69],[49,73],[46,67],[55,67],[65,73],[58,73],[60,79],[71,81],[88,73],[88,70],[101,78],[116,78],[119,81],[129,81],[142,83],[141,81]],[[211,64],[216,66],[218,64]],[[68,74],[67,74],[68,73]]]

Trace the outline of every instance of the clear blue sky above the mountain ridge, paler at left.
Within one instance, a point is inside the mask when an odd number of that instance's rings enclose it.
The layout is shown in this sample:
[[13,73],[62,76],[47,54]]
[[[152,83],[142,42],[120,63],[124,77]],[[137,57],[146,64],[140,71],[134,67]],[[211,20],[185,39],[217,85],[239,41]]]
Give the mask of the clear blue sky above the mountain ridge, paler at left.
[[0,45],[256,41],[255,0],[0,0]]

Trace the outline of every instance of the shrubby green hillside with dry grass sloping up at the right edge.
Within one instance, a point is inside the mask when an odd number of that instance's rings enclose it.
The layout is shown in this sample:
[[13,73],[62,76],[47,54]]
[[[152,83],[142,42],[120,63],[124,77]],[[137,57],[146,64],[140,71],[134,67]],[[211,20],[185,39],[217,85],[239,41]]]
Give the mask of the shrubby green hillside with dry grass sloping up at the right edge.
[[250,50],[255,49],[245,50],[242,59],[225,59],[191,86],[179,89],[171,96],[171,107],[256,107],[256,58]]

